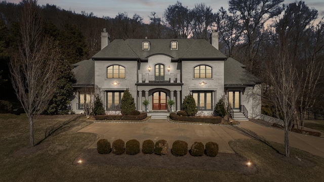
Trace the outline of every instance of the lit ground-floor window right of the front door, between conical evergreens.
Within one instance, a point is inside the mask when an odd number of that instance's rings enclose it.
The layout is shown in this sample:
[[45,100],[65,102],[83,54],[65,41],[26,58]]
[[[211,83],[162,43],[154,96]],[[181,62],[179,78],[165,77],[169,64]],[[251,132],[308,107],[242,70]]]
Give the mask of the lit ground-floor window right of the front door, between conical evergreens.
[[213,96],[212,92],[193,92],[193,99],[196,102],[199,111],[212,111],[213,110]]

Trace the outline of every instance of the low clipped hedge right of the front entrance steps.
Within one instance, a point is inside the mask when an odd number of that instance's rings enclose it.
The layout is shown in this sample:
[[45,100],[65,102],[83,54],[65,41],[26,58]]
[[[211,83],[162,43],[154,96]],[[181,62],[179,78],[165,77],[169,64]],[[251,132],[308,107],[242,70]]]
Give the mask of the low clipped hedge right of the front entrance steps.
[[170,118],[176,121],[188,121],[188,122],[204,122],[219,124],[222,122],[222,118],[219,116],[213,117],[200,117],[200,116],[186,116],[185,111],[179,111],[177,114],[170,113]]

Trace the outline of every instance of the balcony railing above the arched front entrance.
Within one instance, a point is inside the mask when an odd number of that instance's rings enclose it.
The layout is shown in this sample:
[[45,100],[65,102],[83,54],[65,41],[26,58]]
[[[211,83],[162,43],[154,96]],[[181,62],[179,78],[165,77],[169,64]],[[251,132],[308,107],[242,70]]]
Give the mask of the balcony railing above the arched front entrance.
[[180,83],[180,73],[170,73],[169,75],[150,75],[148,73],[138,74],[139,83],[149,82],[169,82],[169,83]]

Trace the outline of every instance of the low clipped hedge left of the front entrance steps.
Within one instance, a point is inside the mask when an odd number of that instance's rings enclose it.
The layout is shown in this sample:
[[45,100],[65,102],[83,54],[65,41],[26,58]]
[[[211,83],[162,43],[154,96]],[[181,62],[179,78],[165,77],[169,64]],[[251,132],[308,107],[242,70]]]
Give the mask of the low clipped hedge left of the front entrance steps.
[[147,113],[133,111],[130,115],[97,115],[96,120],[142,120],[147,117]]

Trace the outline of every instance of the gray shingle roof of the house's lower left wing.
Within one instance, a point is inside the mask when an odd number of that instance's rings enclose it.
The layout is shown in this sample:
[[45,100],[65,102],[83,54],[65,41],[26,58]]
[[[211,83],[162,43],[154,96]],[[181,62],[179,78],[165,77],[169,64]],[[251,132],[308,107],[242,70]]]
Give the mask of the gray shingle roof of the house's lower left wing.
[[92,59],[80,61],[73,65],[77,65],[72,69],[76,82],[74,87],[91,86],[95,84],[95,62]]

